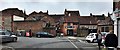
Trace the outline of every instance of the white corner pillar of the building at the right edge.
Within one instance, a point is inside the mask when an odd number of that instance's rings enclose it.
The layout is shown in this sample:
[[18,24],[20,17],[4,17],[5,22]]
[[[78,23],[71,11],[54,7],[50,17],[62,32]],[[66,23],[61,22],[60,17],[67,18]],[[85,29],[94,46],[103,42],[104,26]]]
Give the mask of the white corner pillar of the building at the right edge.
[[116,9],[113,12],[113,21],[114,21],[114,34],[116,34],[118,36],[118,48],[120,48],[120,20],[118,20],[118,18],[120,18],[120,10]]

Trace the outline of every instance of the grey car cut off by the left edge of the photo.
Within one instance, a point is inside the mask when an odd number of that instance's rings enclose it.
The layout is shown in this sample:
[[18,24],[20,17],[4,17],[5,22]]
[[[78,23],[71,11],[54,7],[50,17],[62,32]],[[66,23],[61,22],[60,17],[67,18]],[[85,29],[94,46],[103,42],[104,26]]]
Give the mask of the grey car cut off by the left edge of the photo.
[[9,30],[0,29],[0,42],[16,42],[17,36]]

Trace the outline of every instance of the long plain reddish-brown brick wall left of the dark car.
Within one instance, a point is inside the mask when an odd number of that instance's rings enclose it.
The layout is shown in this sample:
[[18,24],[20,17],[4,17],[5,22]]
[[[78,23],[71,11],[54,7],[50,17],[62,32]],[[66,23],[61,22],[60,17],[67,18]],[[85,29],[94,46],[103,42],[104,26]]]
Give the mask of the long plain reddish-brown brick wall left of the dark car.
[[28,31],[30,28],[33,33],[36,33],[38,31],[42,31],[43,24],[45,24],[42,21],[37,22],[14,22],[14,30],[26,30]]

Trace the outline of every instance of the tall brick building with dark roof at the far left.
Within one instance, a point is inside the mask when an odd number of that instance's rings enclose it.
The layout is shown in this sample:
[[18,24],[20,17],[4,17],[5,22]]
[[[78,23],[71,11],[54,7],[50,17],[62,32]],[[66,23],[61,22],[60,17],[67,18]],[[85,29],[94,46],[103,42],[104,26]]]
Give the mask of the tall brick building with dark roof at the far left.
[[2,13],[2,28],[8,29],[11,31],[13,30],[13,15],[18,16],[25,16],[22,10],[19,10],[18,8],[8,8],[1,11]]

